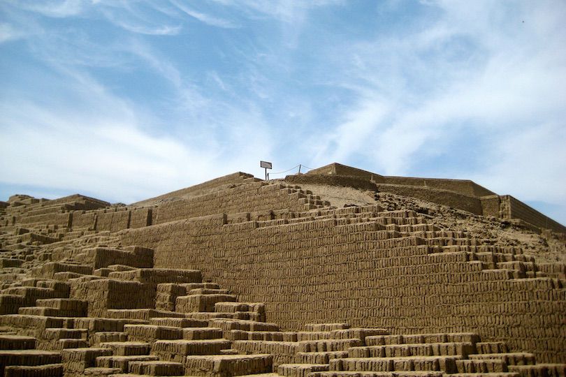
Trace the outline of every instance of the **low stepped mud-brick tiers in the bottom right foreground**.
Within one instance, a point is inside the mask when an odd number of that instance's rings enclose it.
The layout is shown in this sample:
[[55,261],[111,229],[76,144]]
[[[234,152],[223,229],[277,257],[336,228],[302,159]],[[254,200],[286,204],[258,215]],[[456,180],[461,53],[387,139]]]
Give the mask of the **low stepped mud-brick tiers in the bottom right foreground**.
[[[346,324],[336,325],[347,328]],[[509,353],[505,343],[482,343],[473,333],[371,335],[377,329],[352,330],[358,335],[351,340],[358,343],[355,346],[345,347],[343,341],[328,339],[299,341],[299,348],[307,352],[297,352],[296,362],[280,364],[277,373],[286,377],[519,377],[566,373],[565,364],[537,365],[534,355]],[[335,337],[336,332],[326,332],[324,337]]]

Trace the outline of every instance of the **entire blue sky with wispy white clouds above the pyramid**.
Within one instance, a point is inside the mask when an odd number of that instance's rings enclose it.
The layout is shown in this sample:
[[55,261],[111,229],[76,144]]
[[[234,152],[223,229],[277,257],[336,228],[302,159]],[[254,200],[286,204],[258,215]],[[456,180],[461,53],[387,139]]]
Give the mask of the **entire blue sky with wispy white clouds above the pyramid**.
[[565,19],[560,0],[0,0],[0,200],[339,162],[566,223]]

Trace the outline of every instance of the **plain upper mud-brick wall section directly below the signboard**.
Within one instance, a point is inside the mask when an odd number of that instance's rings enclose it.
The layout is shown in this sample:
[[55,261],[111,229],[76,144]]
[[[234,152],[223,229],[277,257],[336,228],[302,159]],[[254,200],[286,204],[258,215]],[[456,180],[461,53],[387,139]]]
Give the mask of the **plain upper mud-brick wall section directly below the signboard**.
[[154,223],[167,223],[219,213],[310,209],[308,204],[300,202],[305,195],[295,191],[281,184],[266,182],[240,184],[224,191],[159,205],[154,210],[157,214]]

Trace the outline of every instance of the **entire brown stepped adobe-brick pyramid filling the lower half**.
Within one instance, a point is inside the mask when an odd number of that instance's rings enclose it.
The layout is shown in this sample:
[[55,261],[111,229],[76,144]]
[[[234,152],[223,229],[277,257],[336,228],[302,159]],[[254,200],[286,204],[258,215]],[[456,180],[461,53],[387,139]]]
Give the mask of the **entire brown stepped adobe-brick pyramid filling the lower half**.
[[0,202],[0,376],[565,376],[566,228],[333,163]]

